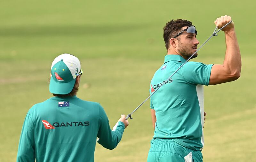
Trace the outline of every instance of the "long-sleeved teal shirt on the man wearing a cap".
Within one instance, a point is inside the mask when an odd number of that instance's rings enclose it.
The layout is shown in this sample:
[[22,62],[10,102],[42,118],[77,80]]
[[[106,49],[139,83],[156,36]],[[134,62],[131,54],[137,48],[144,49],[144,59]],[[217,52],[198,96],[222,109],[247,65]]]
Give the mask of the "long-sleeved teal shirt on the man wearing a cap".
[[17,162],[94,161],[98,143],[114,149],[122,138],[124,123],[111,130],[108,117],[97,102],[72,97],[51,97],[35,104],[25,118]]

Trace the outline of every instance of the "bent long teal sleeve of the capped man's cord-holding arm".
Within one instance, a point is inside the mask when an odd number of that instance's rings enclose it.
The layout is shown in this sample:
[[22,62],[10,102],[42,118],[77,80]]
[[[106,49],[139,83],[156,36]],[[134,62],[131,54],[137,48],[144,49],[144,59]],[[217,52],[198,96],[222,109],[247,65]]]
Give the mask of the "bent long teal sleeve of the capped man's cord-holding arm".
[[108,117],[106,112],[99,104],[100,111],[100,128],[97,137],[98,143],[107,149],[116,148],[117,144],[121,141],[124,132],[124,123],[118,122],[113,130],[110,129]]

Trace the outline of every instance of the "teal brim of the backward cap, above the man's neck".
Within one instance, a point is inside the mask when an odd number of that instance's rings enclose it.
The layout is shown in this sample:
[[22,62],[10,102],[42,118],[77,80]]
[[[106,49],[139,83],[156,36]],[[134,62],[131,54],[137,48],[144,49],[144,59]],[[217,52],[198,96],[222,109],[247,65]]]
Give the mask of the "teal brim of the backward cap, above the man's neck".
[[58,83],[51,76],[49,91],[53,94],[66,95],[72,91],[75,82],[76,78],[68,83]]

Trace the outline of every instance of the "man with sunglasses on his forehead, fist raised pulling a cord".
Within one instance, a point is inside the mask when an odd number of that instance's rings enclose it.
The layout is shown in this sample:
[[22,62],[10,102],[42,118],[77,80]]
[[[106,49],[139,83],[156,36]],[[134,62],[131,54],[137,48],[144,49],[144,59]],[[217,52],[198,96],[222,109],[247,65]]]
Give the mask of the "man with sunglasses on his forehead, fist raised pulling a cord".
[[[221,28],[231,20],[221,16],[215,21]],[[227,25],[226,55],[222,65],[189,61],[166,81],[197,49],[195,26],[187,20],[171,20],[164,26],[167,55],[150,83],[154,137],[148,162],[202,162],[204,146],[203,85],[234,81],[240,77],[241,56],[234,23]],[[194,57],[197,56],[197,53]]]

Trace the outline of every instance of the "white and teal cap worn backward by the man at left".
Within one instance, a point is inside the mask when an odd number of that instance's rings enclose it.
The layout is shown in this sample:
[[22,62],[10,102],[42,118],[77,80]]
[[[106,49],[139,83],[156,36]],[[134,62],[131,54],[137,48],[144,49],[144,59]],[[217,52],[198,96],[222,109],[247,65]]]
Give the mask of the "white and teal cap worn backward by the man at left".
[[77,57],[68,53],[56,57],[51,67],[50,92],[60,95],[70,93],[75,85],[76,76],[82,73],[79,73],[80,70],[81,65]]

